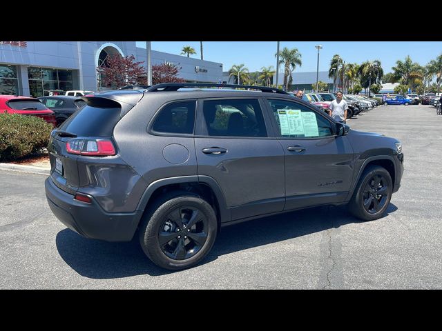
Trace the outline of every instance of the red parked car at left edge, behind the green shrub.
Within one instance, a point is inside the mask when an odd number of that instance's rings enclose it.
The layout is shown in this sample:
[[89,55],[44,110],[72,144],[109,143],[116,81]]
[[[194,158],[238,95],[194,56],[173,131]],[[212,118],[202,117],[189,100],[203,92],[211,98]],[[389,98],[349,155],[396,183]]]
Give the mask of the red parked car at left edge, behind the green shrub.
[[47,123],[57,126],[55,114],[46,108],[39,99],[31,97],[15,97],[14,95],[0,95],[0,113],[21,114],[41,117]]

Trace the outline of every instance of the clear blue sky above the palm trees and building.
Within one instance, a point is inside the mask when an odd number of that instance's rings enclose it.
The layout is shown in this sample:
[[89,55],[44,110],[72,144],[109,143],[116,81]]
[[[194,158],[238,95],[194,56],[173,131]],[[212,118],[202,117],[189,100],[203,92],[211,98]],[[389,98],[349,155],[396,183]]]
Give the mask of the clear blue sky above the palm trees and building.
[[[295,72],[316,71],[318,51],[315,45],[322,45],[319,53],[319,71],[329,70],[330,60],[339,54],[347,63],[361,64],[363,61],[381,61],[385,73],[392,72],[396,61],[403,61],[410,55],[412,61],[425,66],[430,60],[442,54],[442,41],[280,41],[282,48],[298,48],[302,55],[302,66]],[[152,50],[180,54],[183,46],[192,46],[200,59],[200,41],[152,41]],[[137,41],[137,47],[146,48],[144,41]],[[276,68],[276,41],[203,41],[204,60],[219,62],[228,71],[233,64],[241,64],[250,72],[261,67]]]

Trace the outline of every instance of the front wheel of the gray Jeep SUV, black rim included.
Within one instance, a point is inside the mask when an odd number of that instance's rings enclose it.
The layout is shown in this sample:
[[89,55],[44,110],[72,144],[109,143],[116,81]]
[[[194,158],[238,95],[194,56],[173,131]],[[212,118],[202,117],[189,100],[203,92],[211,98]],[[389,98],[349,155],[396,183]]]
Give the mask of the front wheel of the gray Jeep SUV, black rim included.
[[[378,182],[377,186],[376,182]],[[349,211],[364,221],[378,219],[382,217],[390,204],[392,191],[393,182],[390,173],[380,165],[369,165],[354,190],[348,205]],[[375,192],[382,192],[382,194],[373,195]]]

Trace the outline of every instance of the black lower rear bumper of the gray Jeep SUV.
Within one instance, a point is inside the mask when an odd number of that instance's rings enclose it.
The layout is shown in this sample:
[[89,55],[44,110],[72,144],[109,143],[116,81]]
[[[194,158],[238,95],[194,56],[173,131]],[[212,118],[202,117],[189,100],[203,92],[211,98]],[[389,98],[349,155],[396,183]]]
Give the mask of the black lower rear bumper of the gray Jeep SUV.
[[72,194],[57,188],[48,177],[45,181],[46,199],[55,217],[70,230],[86,238],[105,241],[131,241],[142,210],[131,213],[108,213],[93,199],[83,203],[74,199]]

